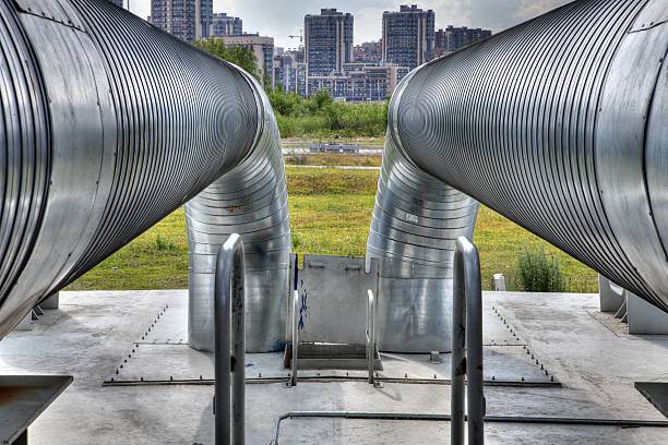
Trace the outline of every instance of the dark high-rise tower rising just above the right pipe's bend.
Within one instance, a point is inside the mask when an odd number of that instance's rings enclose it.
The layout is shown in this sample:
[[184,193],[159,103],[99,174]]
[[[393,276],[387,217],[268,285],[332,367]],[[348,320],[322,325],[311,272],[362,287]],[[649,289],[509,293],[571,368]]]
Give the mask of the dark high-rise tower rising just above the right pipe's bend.
[[422,11],[416,4],[399,7],[399,11],[383,13],[383,60],[414,69],[431,57],[433,50],[432,10]]

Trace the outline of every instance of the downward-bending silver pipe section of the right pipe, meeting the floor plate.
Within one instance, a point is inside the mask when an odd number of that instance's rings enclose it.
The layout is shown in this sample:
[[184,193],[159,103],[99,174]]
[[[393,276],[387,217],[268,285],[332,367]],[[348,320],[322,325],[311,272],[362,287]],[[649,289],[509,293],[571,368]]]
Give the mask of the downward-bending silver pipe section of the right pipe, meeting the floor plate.
[[477,201],[417,168],[387,135],[367,242],[367,258],[382,260],[379,349],[450,351],[454,249],[473,236],[477,212]]

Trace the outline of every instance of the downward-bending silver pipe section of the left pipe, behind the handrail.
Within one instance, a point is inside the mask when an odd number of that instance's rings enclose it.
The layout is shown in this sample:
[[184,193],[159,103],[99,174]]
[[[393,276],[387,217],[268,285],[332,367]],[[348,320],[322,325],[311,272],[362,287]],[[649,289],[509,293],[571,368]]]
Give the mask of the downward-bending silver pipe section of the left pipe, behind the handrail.
[[246,349],[282,350],[289,293],[290,221],[281,134],[262,87],[249,76],[262,117],[249,155],[186,204],[190,251],[188,342],[214,349],[214,272],[230,233],[243,240]]

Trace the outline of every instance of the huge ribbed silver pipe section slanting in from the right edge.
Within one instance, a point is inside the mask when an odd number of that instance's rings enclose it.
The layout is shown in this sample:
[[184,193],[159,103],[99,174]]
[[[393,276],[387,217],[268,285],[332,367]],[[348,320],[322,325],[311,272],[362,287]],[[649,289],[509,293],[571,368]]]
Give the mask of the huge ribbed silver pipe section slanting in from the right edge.
[[667,311],[666,11],[575,1],[422,65],[393,95],[389,139]]

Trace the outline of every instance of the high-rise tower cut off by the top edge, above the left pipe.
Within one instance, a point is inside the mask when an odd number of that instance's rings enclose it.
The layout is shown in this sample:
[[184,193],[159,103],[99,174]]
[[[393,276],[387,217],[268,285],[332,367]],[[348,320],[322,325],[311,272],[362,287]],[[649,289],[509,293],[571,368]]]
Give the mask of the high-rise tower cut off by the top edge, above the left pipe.
[[208,37],[213,21],[213,0],[151,0],[151,23],[192,41]]

